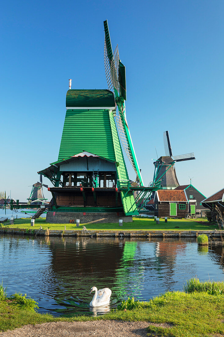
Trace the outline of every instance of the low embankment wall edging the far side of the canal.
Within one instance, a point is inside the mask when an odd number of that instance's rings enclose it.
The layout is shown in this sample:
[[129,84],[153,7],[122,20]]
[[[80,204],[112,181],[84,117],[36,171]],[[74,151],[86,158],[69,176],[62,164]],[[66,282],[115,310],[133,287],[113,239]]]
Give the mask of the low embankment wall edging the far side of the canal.
[[31,229],[27,232],[27,229],[24,228],[0,228],[0,234],[18,234],[18,235],[32,235],[32,236],[68,236],[68,237],[79,237],[79,236],[94,236],[94,237],[126,237],[126,238],[196,238],[200,234],[207,234],[211,238],[220,238],[221,234],[224,236],[224,231],[211,231],[211,230],[200,230],[200,231],[175,231],[175,230],[147,230],[147,231],[124,231],[122,228],[120,230],[114,231],[100,231],[100,230],[90,230],[88,233],[82,233],[81,229],[78,230],[62,230],[62,229]]

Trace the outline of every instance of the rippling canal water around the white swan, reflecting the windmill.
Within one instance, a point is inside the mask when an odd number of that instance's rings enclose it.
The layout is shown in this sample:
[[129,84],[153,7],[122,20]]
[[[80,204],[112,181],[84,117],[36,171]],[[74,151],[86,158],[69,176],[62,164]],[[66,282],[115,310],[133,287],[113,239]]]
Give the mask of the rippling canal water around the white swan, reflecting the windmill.
[[[195,239],[61,238],[0,235],[0,280],[8,296],[26,293],[39,312],[99,314],[123,299],[149,300],[186,280],[224,278],[222,247]],[[110,306],[90,309],[90,288],[109,287]]]

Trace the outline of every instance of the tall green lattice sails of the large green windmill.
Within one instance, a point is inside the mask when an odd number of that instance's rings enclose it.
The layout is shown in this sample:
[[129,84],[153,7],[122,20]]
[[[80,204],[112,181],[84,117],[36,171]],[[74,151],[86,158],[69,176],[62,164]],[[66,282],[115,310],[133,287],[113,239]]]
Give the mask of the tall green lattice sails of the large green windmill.
[[124,100],[126,100],[125,66],[120,62],[118,46],[116,47],[114,53],[112,52],[107,20],[104,21],[104,31],[104,65],[108,88],[109,90],[113,89],[116,104],[118,106],[119,115],[116,115],[118,132],[127,157],[137,175],[137,180],[139,181],[140,185],[143,186],[141,172],[139,169],[138,161],[132,143],[132,138],[130,136],[130,131],[126,121],[124,104]]

